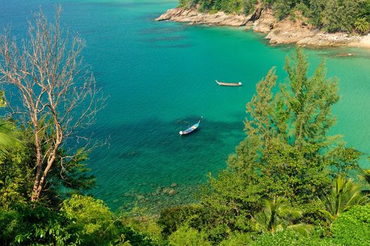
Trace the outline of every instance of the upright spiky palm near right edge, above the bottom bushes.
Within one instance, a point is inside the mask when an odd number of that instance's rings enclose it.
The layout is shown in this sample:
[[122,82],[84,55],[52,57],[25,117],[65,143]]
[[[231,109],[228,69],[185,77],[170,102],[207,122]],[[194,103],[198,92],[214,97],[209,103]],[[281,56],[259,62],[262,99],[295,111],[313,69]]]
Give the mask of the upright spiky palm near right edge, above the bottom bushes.
[[331,193],[326,195],[321,202],[325,207],[325,209],[320,209],[321,214],[324,214],[328,221],[333,221],[340,213],[354,205],[364,205],[369,202],[369,199],[362,193],[361,186],[353,179],[338,176],[333,181]]

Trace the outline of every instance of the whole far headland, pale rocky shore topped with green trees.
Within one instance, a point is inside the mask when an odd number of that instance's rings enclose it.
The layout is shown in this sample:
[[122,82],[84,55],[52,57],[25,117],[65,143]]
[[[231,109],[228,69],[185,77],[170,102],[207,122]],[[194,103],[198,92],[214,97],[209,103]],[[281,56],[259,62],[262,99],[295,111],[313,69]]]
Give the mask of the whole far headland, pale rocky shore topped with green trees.
[[156,20],[245,27],[270,44],[370,47],[368,0],[182,0]]

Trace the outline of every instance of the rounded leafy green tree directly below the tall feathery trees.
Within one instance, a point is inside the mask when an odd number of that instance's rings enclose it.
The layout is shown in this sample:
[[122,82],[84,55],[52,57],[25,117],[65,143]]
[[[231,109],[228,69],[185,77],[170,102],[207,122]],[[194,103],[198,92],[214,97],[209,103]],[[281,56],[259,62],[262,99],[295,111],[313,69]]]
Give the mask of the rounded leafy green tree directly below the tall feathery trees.
[[283,196],[305,212],[314,212],[317,196],[326,193],[331,184],[330,170],[321,156],[319,145],[305,145],[300,150],[279,139],[272,141],[272,148],[260,169],[260,186],[265,196]]

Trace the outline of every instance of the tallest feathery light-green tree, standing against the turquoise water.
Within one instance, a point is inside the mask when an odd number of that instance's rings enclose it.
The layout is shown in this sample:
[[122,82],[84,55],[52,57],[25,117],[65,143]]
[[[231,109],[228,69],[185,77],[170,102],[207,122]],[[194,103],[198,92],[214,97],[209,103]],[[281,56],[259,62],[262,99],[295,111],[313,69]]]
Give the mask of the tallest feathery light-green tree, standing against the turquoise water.
[[286,123],[293,127],[292,134],[287,134],[287,140],[294,143],[298,150],[306,144],[325,147],[338,138],[327,136],[329,129],[336,124],[331,108],[339,100],[338,80],[326,79],[324,62],[317,67],[312,77],[307,76],[308,68],[305,53],[297,48],[291,58],[286,58],[285,70],[289,83],[281,87],[284,106],[289,112]]

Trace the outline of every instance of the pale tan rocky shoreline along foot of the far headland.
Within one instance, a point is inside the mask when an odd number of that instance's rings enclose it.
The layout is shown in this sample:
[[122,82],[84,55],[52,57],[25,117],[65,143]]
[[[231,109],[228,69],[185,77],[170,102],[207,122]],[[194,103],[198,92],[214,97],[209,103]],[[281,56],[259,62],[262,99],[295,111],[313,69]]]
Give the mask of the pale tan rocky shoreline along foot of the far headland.
[[246,30],[267,34],[270,44],[298,44],[300,46],[327,47],[353,46],[370,48],[370,34],[352,35],[343,32],[326,33],[303,20],[286,18],[277,21],[271,9],[257,7],[250,15],[227,15],[223,12],[200,13],[196,9],[172,8],[155,20],[188,22],[189,25],[224,25],[245,27]]

